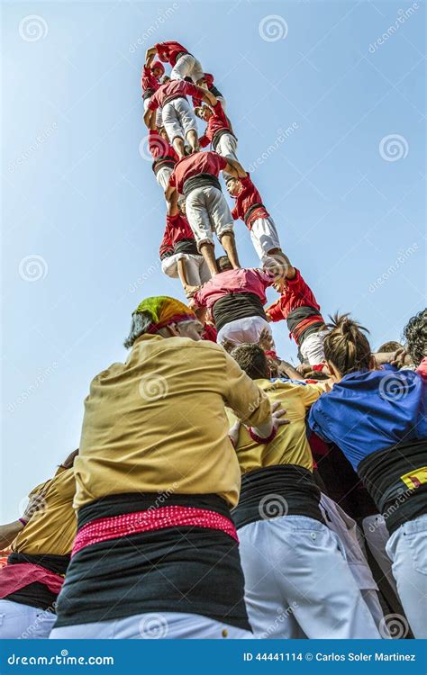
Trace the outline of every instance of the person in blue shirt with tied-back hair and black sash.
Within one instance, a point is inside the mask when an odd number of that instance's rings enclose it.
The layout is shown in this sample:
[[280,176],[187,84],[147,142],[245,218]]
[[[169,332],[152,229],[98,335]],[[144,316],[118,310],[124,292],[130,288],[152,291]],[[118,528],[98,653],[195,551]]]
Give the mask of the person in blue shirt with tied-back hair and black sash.
[[379,369],[366,329],[335,316],[324,340],[334,381],[310,410],[309,425],[341,448],[386,519],[386,551],[413,635],[427,637],[426,381]]

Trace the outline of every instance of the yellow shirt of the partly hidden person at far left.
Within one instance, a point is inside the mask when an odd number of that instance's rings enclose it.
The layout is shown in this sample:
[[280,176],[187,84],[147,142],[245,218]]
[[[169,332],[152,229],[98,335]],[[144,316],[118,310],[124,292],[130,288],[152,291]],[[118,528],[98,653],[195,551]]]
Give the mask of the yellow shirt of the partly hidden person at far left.
[[30,493],[40,499],[27,525],[15,537],[12,550],[18,554],[69,555],[76,536],[77,518],[73,509],[76,481],[72,467],[57,473]]

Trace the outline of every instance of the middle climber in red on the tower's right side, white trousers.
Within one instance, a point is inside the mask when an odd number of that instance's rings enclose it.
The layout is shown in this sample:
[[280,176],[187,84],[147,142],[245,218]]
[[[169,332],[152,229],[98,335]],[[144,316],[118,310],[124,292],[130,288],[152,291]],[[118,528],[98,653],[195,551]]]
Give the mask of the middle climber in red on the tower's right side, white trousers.
[[244,220],[250,230],[250,239],[259,260],[268,263],[268,257],[283,256],[277,229],[266,207],[262,203],[261,195],[250,180],[250,174],[239,178],[227,177],[227,190],[236,200],[232,210],[234,220]]

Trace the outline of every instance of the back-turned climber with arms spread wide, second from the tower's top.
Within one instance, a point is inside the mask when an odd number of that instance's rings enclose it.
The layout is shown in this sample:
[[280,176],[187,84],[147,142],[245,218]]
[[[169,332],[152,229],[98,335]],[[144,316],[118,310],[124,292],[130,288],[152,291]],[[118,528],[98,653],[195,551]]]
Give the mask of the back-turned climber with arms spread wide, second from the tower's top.
[[185,140],[188,141],[192,152],[199,149],[197,122],[186,98],[187,94],[200,95],[206,103],[215,101],[215,97],[202,87],[185,80],[171,79],[166,84],[160,85],[151,96],[147,112],[144,114],[144,121],[150,126],[151,117],[159,106],[161,107],[163,126],[178,157],[185,157]]

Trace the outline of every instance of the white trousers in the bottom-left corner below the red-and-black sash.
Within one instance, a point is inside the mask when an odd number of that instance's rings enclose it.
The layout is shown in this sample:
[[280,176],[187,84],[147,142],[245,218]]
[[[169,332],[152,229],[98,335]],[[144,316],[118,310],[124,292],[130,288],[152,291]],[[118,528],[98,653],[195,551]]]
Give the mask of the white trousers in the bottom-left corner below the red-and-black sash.
[[0,640],[43,640],[56,620],[53,612],[0,600]]

